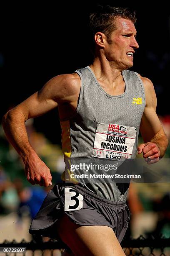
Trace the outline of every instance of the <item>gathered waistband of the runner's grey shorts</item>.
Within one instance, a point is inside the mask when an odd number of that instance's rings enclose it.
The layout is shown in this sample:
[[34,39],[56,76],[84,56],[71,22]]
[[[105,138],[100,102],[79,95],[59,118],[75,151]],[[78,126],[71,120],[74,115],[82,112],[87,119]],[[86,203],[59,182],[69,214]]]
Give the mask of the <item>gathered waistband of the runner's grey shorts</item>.
[[126,203],[126,200],[119,201],[119,202],[114,202],[114,201],[107,200],[103,197],[100,197],[100,196],[96,195],[95,193],[92,193],[91,191],[87,190],[86,188],[80,187],[79,185],[76,185],[76,184],[73,184],[73,183],[70,183],[70,184],[64,183],[64,184],[62,184],[62,186],[63,187],[75,187],[75,188],[79,189],[81,192],[88,195],[89,197],[92,197],[92,198],[96,199],[99,202],[103,202],[103,203],[106,203],[106,204],[109,204],[109,205],[118,206],[118,205],[125,205],[125,203]]

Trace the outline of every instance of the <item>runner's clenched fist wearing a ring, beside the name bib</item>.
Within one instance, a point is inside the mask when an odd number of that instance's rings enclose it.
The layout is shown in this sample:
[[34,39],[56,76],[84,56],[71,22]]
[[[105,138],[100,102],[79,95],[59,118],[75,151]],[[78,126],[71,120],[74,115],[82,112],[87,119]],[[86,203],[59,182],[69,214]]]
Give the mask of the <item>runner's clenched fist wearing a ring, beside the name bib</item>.
[[142,143],[138,147],[138,154],[143,152],[143,157],[148,164],[154,164],[159,161],[160,150],[153,142]]

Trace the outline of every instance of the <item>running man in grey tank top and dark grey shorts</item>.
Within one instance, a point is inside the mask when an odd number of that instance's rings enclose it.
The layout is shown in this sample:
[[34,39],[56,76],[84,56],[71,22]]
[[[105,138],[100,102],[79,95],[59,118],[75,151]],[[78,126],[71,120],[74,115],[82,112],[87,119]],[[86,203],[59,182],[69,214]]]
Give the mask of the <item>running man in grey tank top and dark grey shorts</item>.
[[[138,152],[153,164],[165,154],[168,139],[155,112],[153,84],[127,70],[133,66],[139,47],[135,22],[136,14],[129,8],[100,7],[90,15],[93,63],[50,79],[39,92],[5,114],[5,133],[22,157],[31,184],[47,187],[52,177],[30,146],[24,123],[56,107],[65,162],[123,161],[135,159]],[[139,130],[144,143],[138,147]],[[69,175],[66,167],[62,175],[65,182],[50,190],[30,233],[59,237],[67,248],[65,255],[125,255],[120,242],[130,219],[125,204],[128,188],[119,189],[114,181],[77,182]]]

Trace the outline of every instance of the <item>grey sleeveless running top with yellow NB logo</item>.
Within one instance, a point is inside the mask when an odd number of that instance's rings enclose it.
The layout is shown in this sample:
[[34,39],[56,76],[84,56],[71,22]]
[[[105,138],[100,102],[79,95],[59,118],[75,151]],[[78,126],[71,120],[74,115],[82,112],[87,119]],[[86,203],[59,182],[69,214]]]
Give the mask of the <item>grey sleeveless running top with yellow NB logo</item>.
[[[76,113],[69,120],[60,120],[62,151],[67,159],[101,159],[124,161],[135,159],[140,122],[145,108],[143,82],[135,72],[124,70],[125,92],[112,96],[97,82],[89,66],[76,70],[81,89]],[[69,161],[67,161],[69,162]],[[80,161],[81,162],[81,161]],[[66,164],[62,179],[78,183],[96,195],[111,201],[123,201],[128,193],[127,184],[121,189],[115,181],[95,182],[94,179],[68,178],[72,172]],[[87,180],[87,179],[86,179]]]

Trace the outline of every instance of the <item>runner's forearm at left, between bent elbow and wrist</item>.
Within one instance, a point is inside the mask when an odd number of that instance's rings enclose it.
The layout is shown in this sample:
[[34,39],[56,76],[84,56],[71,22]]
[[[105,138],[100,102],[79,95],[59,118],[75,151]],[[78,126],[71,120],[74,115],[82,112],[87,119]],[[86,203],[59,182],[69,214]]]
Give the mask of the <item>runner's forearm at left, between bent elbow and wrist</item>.
[[2,126],[8,141],[20,154],[24,162],[29,156],[36,154],[28,141],[25,117],[22,113],[17,109],[8,111],[2,119]]

